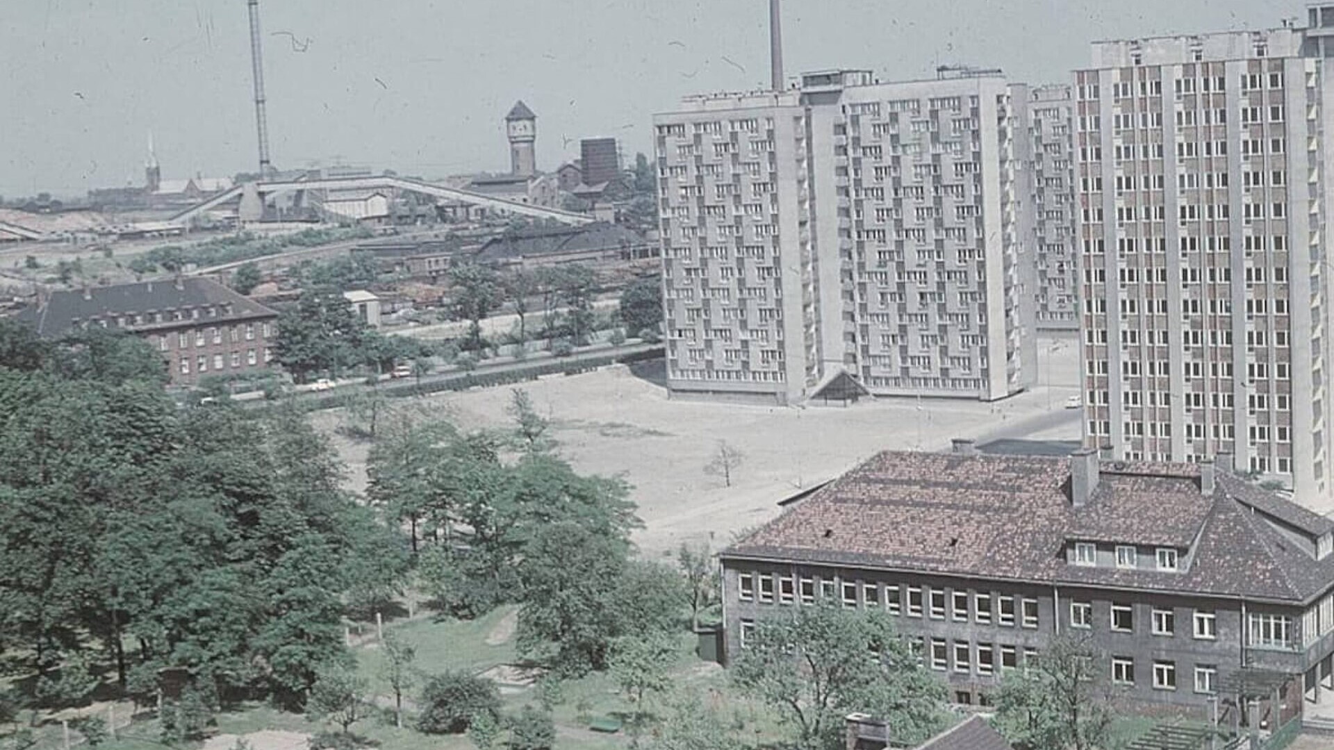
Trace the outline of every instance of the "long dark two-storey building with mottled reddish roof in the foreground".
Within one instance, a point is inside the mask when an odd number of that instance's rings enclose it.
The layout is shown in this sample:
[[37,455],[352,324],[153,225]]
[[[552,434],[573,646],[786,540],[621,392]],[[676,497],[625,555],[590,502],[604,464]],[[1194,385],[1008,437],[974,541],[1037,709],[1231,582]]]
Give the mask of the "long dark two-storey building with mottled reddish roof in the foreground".
[[724,651],[823,602],[894,615],[960,703],[1059,635],[1138,703],[1203,707],[1258,675],[1266,713],[1327,702],[1334,522],[1227,460],[880,454],[719,554]]

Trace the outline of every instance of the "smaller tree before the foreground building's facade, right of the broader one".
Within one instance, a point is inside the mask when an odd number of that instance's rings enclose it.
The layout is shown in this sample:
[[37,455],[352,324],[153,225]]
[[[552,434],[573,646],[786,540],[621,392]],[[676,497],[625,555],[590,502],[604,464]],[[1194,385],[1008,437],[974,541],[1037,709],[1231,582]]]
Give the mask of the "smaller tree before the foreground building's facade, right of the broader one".
[[1087,638],[1054,638],[1000,682],[996,729],[1019,750],[1106,747],[1117,711],[1103,662]]

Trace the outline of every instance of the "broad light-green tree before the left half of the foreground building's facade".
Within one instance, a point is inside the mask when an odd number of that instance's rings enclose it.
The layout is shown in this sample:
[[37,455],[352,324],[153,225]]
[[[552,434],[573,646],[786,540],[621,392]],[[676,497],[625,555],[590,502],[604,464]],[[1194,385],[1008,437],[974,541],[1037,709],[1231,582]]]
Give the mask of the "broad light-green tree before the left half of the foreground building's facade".
[[880,610],[802,607],[756,623],[732,667],[748,695],[782,711],[799,747],[839,747],[843,715],[866,711],[915,745],[943,729],[944,685],[916,663]]

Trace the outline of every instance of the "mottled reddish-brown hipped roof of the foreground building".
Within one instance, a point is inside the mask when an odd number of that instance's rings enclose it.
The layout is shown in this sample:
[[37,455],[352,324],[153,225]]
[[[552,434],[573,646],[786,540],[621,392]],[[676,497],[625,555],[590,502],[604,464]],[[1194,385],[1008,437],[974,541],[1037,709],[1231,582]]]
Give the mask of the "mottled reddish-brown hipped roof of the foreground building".
[[[1197,464],[1103,462],[1093,498],[1077,508],[1065,458],[886,451],[722,556],[1281,602],[1334,585],[1334,555],[1317,562],[1266,520],[1309,511],[1273,495],[1259,503],[1263,491],[1242,484],[1223,475],[1205,496]],[[1179,573],[1081,567],[1066,562],[1073,539],[1193,556]]]

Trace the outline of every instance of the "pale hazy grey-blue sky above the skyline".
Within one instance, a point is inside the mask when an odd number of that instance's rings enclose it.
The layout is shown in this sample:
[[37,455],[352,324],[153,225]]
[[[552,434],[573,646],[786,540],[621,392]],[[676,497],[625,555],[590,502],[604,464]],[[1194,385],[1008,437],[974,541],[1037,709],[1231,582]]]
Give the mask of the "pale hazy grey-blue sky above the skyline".
[[[426,177],[508,169],[502,117],[538,113],[538,165],[578,139],[650,148],[686,93],[768,81],[766,0],[261,0],[281,168]],[[1089,41],[1277,27],[1297,0],[784,0],[788,75],[935,65],[1066,80]],[[280,33],[285,32],[285,33]],[[304,51],[301,51],[304,48]],[[0,0],[0,195],[256,165],[245,0]],[[568,143],[566,139],[570,139]]]

